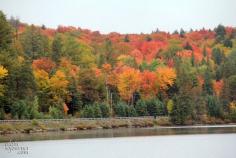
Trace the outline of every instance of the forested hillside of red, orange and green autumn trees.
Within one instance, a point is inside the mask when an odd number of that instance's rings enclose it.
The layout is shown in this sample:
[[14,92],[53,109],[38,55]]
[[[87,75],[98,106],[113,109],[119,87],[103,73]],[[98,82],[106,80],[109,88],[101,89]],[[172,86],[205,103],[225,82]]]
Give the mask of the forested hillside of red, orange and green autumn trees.
[[0,119],[149,115],[236,121],[236,28],[101,34],[0,12]]

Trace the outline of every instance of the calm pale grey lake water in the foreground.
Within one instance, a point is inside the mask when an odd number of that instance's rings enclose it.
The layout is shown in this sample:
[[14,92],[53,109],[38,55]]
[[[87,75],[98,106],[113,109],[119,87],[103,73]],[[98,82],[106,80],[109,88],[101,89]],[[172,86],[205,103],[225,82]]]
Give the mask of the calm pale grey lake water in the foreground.
[[[80,135],[80,137],[78,137],[78,132],[71,132],[69,134],[68,132],[67,134],[55,134],[54,132],[54,137],[49,134],[50,136],[47,135],[45,137],[41,137],[41,139],[57,139],[58,136],[63,139],[68,139],[0,143],[0,157],[236,158],[235,128],[236,127],[215,126],[203,128],[177,127],[163,129],[116,129],[105,130],[105,133],[103,133],[104,130],[95,130],[90,131],[90,133],[87,131],[87,135],[83,133]],[[166,133],[168,131],[169,133]],[[112,132],[113,135],[111,135]],[[75,133],[77,133],[77,135]],[[147,136],[144,136],[145,133]],[[91,137],[92,135],[98,138],[87,138]]]

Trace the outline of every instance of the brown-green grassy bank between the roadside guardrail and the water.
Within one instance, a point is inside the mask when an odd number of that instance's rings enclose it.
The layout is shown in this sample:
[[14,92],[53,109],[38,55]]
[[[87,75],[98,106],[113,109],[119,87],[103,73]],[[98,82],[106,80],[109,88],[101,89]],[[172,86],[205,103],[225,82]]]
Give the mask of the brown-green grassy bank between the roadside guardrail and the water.
[[[167,119],[167,118],[166,118]],[[167,119],[168,120],[168,119]],[[140,128],[153,127],[158,121],[152,118],[101,119],[101,120],[65,120],[65,121],[22,121],[0,124],[1,134],[34,133],[47,131],[77,131],[87,129]]]

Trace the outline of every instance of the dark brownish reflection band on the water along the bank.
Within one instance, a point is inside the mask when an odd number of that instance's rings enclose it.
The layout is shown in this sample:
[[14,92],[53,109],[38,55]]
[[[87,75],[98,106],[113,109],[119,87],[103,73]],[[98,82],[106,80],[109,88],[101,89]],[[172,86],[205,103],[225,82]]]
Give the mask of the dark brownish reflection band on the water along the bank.
[[153,126],[153,127],[119,127],[110,129],[86,129],[75,131],[44,131],[32,133],[12,133],[0,135],[0,143],[71,140],[71,139],[97,139],[121,137],[153,137],[177,135],[204,135],[204,134],[236,134],[236,124],[224,125],[187,125],[187,126]]

